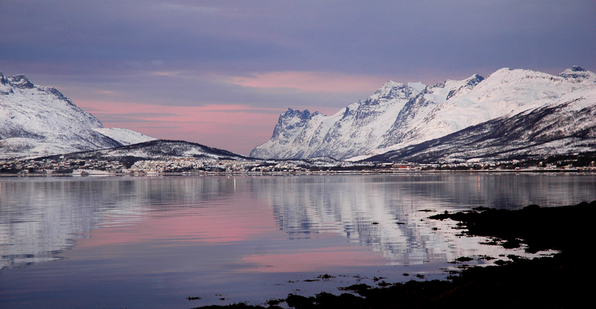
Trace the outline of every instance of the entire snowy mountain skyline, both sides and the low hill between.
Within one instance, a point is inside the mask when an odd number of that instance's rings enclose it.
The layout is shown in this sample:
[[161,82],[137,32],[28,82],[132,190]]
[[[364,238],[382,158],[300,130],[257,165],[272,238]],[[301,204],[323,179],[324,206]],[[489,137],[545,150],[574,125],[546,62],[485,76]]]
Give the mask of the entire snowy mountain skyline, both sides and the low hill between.
[[[83,154],[83,152],[88,152]],[[260,159],[461,162],[596,152],[596,74],[503,68],[433,86],[388,81],[332,116],[288,109]],[[55,88],[0,73],[0,159],[247,157],[105,128]]]

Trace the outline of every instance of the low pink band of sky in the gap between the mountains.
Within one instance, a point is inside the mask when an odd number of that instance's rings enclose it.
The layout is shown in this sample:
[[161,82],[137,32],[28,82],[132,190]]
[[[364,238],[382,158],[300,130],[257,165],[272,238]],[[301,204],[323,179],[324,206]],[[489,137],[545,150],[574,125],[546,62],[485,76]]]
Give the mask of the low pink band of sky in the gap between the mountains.
[[[241,155],[248,155],[268,140],[279,117],[276,111],[248,105],[165,107],[98,101],[79,101],[78,105],[106,127],[131,129],[154,138],[187,140]],[[102,120],[117,119],[118,115],[133,121]]]

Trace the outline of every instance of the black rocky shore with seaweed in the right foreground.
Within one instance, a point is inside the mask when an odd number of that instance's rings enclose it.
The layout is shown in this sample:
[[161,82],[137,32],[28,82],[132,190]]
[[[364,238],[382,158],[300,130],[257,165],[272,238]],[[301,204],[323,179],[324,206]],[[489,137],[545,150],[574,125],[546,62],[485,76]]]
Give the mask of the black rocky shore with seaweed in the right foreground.
[[508,256],[508,261],[467,268],[448,280],[386,287],[357,284],[344,287],[346,292],[339,296],[289,294],[269,301],[268,307],[237,303],[201,308],[280,308],[284,302],[292,308],[578,308],[591,298],[588,247],[595,214],[596,201],[562,207],[529,205],[517,211],[480,207],[441,213],[430,218],[458,221],[464,235],[489,237],[499,246],[559,253],[531,260]]

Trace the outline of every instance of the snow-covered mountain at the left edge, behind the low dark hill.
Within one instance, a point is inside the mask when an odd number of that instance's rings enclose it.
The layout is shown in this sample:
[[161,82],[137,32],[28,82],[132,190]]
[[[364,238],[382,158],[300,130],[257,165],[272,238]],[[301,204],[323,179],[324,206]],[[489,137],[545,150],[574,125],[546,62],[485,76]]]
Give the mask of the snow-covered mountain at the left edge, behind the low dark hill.
[[97,150],[154,140],[127,129],[104,128],[56,88],[25,75],[0,73],[0,159]]

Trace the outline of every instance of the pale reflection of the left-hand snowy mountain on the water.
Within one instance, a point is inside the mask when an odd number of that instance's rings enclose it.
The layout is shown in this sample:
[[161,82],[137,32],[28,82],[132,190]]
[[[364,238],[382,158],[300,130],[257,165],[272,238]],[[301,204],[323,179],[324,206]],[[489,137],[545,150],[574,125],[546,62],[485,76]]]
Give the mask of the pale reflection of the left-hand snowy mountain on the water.
[[[208,178],[5,178],[0,180],[0,269],[62,259],[74,239],[147,213],[226,199],[233,181]],[[180,213],[176,213],[180,216]]]

